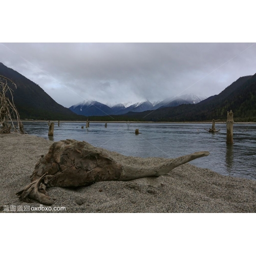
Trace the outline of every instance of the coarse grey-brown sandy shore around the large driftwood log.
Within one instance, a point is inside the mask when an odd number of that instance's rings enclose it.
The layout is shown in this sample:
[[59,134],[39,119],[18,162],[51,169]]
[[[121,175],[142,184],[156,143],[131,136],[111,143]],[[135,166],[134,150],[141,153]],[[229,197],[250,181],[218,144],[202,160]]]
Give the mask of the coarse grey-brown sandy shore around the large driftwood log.
[[[13,212],[18,212],[18,206],[40,205],[21,202],[15,193],[30,183],[35,164],[52,143],[31,135],[0,135],[0,212],[6,212],[4,205],[15,205]],[[118,153],[104,151],[120,159]],[[166,159],[125,157],[122,161],[138,165]],[[76,189],[53,187],[47,191],[56,198],[52,209],[66,207],[66,211],[41,212],[256,212],[256,181],[222,176],[191,164],[161,177],[104,181]]]

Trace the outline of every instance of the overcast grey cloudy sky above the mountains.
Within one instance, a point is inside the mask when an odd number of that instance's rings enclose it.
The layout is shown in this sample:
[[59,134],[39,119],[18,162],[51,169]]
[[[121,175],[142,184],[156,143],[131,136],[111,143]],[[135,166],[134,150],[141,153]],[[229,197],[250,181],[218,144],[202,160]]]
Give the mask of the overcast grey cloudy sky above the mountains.
[[209,97],[256,73],[253,43],[4,43],[0,56],[68,108],[84,99]]

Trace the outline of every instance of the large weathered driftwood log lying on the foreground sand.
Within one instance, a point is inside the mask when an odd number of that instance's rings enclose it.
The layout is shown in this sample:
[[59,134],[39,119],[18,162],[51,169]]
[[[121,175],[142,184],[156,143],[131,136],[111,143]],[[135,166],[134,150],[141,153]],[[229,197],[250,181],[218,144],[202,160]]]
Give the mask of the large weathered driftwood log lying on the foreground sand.
[[32,183],[16,195],[26,202],[34,199],[51,205],[54,200],[47,194],[47,187],[77,187],[88,186],[97,181],[129,181],[150,176],[158,177],[181,164],[208,155],[209,152],[202,151],[176,159],[166,159],[157,166],[134,167],[115,161],[100,148],[86,141],[62,140],[54,142],[48,154],[41,156],[31,176]]

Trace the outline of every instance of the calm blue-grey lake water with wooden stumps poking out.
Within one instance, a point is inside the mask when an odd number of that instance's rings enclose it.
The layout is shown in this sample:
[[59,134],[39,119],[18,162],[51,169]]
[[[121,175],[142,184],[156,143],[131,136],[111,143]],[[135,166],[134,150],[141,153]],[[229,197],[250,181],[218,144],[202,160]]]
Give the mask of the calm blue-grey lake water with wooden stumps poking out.
[[[81,126],[84,125],[84,129]],[[85,140],[126,156],[176,158],[197,151],[210,155],[191,161],[198,167],[215,172],[256,180],[256,124],[234,124],[233,145],[226,144],[226,124],[211,134],[211,124],[204,123],[86,123],[62,122],[54,126],[54,136],[48,137],[47,122],[24,122],[24,130],[31,135],[54,141],[63,139]],[[141,134],[135,135],[135,129]]]

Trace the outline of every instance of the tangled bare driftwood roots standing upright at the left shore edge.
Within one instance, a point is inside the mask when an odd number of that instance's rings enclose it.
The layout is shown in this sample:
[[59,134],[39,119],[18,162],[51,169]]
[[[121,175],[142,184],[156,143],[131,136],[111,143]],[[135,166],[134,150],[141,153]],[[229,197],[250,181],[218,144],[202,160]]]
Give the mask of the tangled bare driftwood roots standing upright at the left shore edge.
[[[14,132],[24,133],[24,129],[20,130],[20,121],[19,114],[15,108],[13,102],[12,89],[8,86],[8,82],[11,82],[15,88],[16,84],[9,78],[0,75],[0,134],[10,133],[13,129]],[[7,97],[9,94],[9,97]],[[13,123],[17,121],[18,127]],[[23,132],[22,132],[23,131]]]

